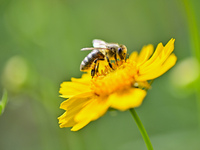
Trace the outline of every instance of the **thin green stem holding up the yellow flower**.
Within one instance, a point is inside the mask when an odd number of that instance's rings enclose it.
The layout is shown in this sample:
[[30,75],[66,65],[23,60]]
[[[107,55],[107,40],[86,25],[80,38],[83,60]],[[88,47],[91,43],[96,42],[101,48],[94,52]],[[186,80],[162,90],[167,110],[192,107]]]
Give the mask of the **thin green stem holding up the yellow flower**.
[[136,122],[136,124],[137,124],[137,126],[138,126],[138,128],[139,128],[139,130],[140,130],[140,133],[142,134],[142,137],[143,137],[143,139],[144,139],[144,142],[145,142],[145,144],[146,144],[148,150],[153,150],[153,146],[152,146],[152,144],[151,144],[151,141],[150,141],[150,139],[149,139],[149,136],[148,136],[148,134],[147,134],[147,132],[146,132],[146,130],[145,130],[145,128],[144,128],[144,126],[143,126],[143,124],[142,124],[140,118],[138,117],[138,115],[137,115],[135,109],[134,109],[134,108],[131,108],[131,109],[130,109],[130,112],[131,112],[131,114],[132,114],[132,116],[133,116],[133,118],[134,118],[134,120],[135,120],[135,122]]

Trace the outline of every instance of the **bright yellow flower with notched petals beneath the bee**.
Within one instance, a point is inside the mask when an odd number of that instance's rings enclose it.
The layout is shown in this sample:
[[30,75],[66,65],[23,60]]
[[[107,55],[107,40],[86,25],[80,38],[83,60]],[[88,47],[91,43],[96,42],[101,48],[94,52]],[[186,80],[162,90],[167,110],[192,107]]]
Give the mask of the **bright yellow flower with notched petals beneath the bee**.
[[171,39],[166,46],[159,43],[154,53],[152,45],[144,46],[139,55],[133,52],[126,62],[112,63],[114,69],[105,65],[93,79],[87,73],[80,79],[63,82],[59,92],[68,100],[60,105],[65,110],[58,118],[60,127],[77,131],[104,115],[110,107],[125,111],[140,106],[146,89],[150,88],[148,80],[175,65],[174,41]]

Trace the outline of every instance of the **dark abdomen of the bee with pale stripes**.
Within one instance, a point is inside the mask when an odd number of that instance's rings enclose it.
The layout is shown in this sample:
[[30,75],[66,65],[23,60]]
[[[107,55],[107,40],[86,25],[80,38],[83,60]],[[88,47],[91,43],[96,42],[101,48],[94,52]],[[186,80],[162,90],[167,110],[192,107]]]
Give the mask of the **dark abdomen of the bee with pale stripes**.
[[81,71],[87,71],[90,69],[90,66],[94,62],[95,59],[103,59],[104,55],[99,50],[93,50],[91,53],[89,53],[81,62],[80,70]]

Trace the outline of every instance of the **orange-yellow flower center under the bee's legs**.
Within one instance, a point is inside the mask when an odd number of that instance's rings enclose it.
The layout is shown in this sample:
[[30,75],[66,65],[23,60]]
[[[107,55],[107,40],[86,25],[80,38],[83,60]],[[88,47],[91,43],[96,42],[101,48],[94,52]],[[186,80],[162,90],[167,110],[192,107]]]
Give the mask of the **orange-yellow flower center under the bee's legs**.
[[135,62],[123,62],[118,65],[112,63],[114,69],[105,66],[103,70],[92,79],[91,89],[98,96],[107,96],[113,92],[128,89],[135,83],[137,69]]

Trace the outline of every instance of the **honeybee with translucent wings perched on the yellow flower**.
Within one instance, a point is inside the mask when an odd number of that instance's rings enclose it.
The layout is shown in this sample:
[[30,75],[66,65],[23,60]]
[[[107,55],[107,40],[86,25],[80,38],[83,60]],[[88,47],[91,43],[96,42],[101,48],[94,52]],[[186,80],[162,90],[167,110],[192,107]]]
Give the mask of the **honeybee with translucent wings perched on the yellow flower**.
[[80,71],[91,69],[92,78],[98,72],[99,61],[106,60],[110,68],[113,69],[110,59],[114,59],[118,64],[119,60],[126,60],[127,48],[125,45],[117,43],[106,43],[103,40],[94,39],[93,47],[82,48],[81,51],[92,50],[81,62]]

